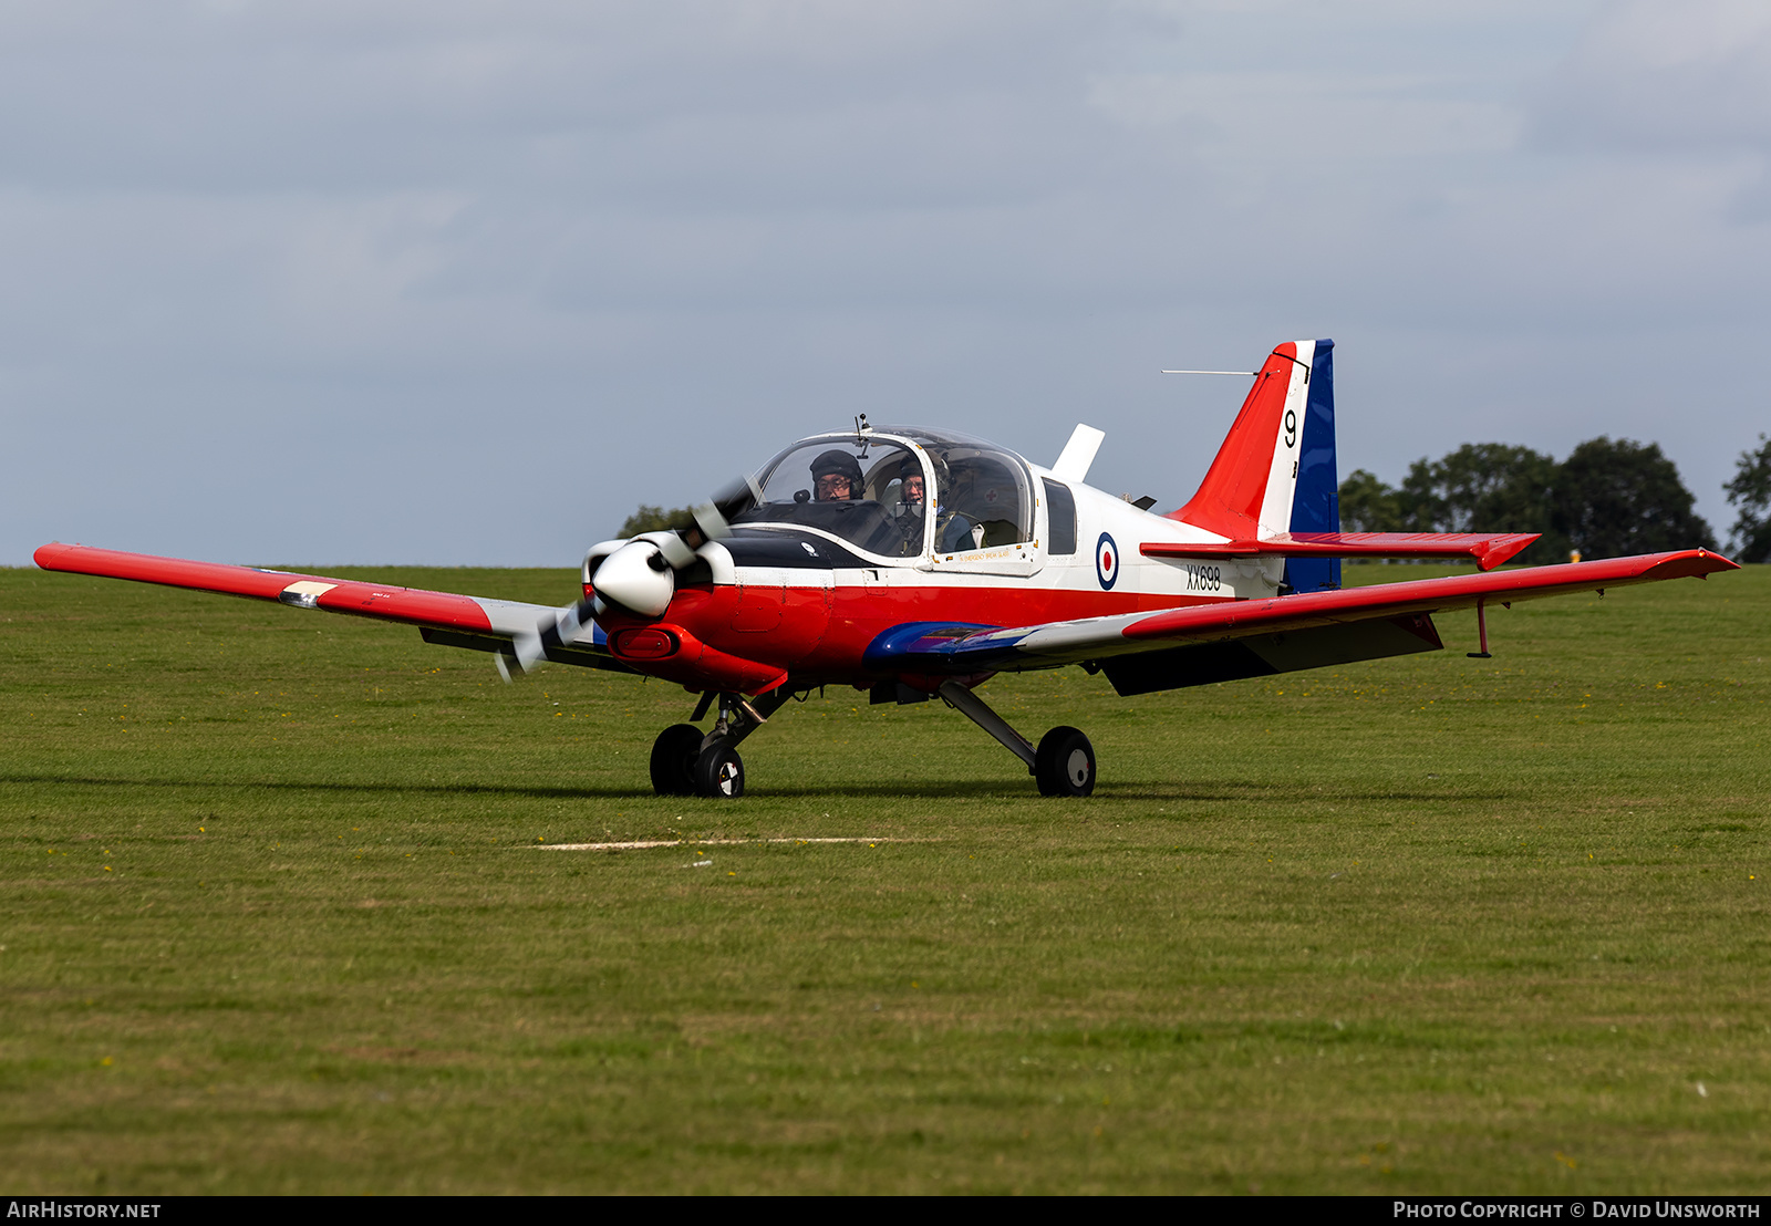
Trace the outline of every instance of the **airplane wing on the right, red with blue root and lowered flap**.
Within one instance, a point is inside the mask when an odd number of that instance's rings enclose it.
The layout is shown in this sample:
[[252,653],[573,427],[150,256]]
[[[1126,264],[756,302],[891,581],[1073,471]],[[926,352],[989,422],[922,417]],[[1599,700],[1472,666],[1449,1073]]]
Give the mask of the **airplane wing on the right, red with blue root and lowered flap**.
[[1217,601],[1011,629],[912,622],[868,647],[880,671],[976,675],[1098,666],[1121,694],[1204,686],[1443,647],[1433,613],[1737,570],[1707,549]]

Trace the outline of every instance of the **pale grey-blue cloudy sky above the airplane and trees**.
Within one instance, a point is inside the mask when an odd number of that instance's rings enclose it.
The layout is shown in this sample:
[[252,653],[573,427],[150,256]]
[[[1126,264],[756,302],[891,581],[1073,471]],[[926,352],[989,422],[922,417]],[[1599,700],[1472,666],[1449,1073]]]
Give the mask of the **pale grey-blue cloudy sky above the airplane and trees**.
[[1771,431],[1760,0],[14,0],[0,565],[576,565],[793,438],[1178,507],[1280,340],[1341,475]]

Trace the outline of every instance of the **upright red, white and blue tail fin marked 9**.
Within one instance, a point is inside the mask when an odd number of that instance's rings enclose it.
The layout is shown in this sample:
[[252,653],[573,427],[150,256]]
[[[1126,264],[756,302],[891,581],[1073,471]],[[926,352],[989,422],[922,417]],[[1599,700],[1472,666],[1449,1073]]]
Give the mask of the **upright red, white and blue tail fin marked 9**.
[[[1231,540],[1341,530],[1332,340],[1273,349],[1199,493],[1169,517]],[[1291,558],[1286,583],[1298,592],[1337,588],[1341,562]]]

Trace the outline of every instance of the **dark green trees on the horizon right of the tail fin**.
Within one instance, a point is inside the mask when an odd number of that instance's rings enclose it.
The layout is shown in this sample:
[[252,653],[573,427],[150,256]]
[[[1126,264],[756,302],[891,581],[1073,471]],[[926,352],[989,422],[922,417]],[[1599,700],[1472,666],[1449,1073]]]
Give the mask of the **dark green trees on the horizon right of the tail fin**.
[[[1737,519],[1737,562],[1771,562],[1771,441],[1741,452],[1723,485]],[[1527,565],[1631,553],[1716,547],[1691,510],[1691,491],[1659,443],[1587,439],[1562,462],[1528,446],[1465,443],[1436,461],[1420,457],[1401,487],[1364,468],[1341,482],[1342,532],[1537,532],[1518,556]]]

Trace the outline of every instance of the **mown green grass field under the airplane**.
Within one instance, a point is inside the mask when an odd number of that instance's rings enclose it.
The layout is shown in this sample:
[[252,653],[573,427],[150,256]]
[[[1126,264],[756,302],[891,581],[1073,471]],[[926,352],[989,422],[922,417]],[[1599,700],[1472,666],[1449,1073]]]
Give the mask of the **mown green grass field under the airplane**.
[[[0,1187],[1767,1191],[1771,569],[1440,627],[990,682],[1086,803],[834,689],[661,801],[673,686],[0,570]],[[657,838],[788,842],[545,847]]]

